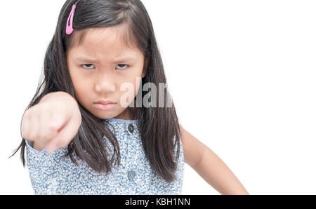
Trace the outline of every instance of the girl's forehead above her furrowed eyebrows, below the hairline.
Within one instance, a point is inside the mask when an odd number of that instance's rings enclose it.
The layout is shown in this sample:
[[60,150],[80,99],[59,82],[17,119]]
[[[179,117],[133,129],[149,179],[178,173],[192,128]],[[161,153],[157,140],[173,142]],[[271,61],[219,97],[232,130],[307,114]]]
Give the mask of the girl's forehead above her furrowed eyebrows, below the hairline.
[[67,53],[72,55],[137,55],[131,33],[124,25],[114,27],[93,27],[73,33]]

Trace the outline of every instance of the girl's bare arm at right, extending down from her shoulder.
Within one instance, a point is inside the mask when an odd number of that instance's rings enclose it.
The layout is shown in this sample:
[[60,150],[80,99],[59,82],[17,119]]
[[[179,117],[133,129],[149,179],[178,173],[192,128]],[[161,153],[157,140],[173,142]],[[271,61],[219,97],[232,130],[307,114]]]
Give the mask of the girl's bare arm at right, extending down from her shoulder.
[[225,163],[180,126],[185,163],[220,194],[249,194]]

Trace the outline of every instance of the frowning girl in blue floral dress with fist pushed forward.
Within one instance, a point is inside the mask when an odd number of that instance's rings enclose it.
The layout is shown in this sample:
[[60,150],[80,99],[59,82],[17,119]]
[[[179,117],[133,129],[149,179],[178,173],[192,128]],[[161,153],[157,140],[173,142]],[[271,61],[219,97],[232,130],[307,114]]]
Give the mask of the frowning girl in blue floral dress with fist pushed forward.
[[21,123],[18,149],[25,166],[26,147],[35,194],[181,194],[184,163],[221,194],[247,194],[180,126],[166,88],[154,91],[160,84],[162,58],[140,0],[67,0]]

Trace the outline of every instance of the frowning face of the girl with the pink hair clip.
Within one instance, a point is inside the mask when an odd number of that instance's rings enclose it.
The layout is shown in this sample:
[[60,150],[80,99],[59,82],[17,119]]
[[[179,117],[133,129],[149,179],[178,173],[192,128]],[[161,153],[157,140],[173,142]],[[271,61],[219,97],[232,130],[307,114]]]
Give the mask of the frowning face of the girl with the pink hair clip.
[[[67,51],[74,93],[80,104],[100,119],[130,119],[126,104],[133,102],[140,87],[139,80],[145,76],[143,53],[120,41],[119,30],[113,27],[86,30],[88,33],[82,44]],[[130,83],[133,89],[121,90],[123,83]],[[125,104],[121,103],[121,98],[125,98]],[[99,100],[117,104],[112,109],[101,110],[93,104]]]

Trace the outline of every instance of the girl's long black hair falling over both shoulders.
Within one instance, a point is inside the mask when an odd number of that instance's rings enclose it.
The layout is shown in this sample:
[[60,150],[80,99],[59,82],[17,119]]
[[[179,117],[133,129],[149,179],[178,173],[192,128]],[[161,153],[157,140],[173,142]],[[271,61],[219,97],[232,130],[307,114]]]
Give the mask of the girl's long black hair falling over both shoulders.
[[[66,59],[67,49],[74,44],[73,34],[68,35],[65,32],[67,18],[73,4],[77,4],[73,19],[74,33],[91,27],[126,25],[124,40],[133,41],[145,57],[144,70],[147,73],[141,82],[153,83],[156,86],[159,86],[159,83],[166,85],[164,66],[154,36],[152,22],[140,0],[67,0],[62,6],[55,34],[46,50],[44,79],[39,82],[37,91],[25,111],[37,104],[44,95],[56,91],[65,91],[77,100]],[[138,93],[143,101],[145,93],[143,93],[142,88],[139,88],[139,90]],[[160,99],[170,101],[171,97],[167,88],[164,88],[164,91],[166,91],[164,92],[164,98],[157,96],[157,104],[160,104]],[[175,172],[180,154],[180,127],[172,99],[171,104],[171,107],[166,107],[166,105],[165,107],[143,107],[143,105],[142,107],[133,107],[133,112],[136,119],[138,119],[138,130],[145,155],[152,170],[167,182],[176,180]],[[77,135],[68,144],[67,153],[64,157],[70,156],[72,162],[77,163],[72,155],[75,153],[96,172],[109,173],[111,171],[110,165],[114,162],[114,159],[117,160],[117,165],[120,162],[117,138],[105,126],[105,123],[107,123],[105,120],[93,116],[81,104],[79,104],[79,109],[81,112],[81,126]],[[110,161],[107,159],[104,136],[114,147],[114,153]],[[25,139],[22,138],[20,146],[12,154],[13,156],[21,148],[20,158],[24,167],[25,145]]]

